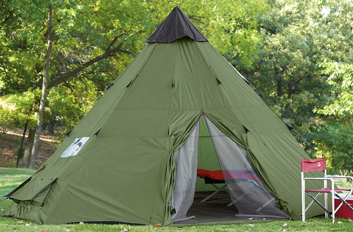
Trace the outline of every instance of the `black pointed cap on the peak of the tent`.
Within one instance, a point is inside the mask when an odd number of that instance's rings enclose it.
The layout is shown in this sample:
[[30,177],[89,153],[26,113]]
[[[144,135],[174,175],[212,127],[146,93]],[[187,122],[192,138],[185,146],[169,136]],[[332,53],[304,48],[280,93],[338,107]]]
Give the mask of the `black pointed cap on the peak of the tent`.
[[146,42],[170,43],[183,37],[189,37],[195,41],[208,41],[188,16],[179,7],[175,7],[158,28],[147,37]]

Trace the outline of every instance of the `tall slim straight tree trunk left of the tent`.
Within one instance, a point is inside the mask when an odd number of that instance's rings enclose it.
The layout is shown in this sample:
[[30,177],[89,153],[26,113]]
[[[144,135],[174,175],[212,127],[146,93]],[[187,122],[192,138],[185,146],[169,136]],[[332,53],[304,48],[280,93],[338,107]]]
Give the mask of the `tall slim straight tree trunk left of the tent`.
[[33,147],[32,147],[31,163],[29,165],[29,167],[31,169],[34,169],[34,166],[35,166],[35,159],[36,159],[37,148],[38,148],[38,143],[39,143],[40,129],[42,127],[42,121],[43,121],[43,113],[44,113],[44,106],[45,106],[45,99],[46,99],[46,89],[48,86],[50,53],[51,53],[51,44],[52,44],[52,38],[51,38],[52,37],[52,33],[51,33],[52,7],[50,4],[48,6],[48,10],[49,10],[49,12],[48,12],[48,30],[47,30],[48,42],[47,42],[47,50],[46,50],[46,56],[45,56],[45,68],[44,68],[44,76],[43,76],[43,83],[42,83],[42,96],[40,98],[37,128],[36,128]]

